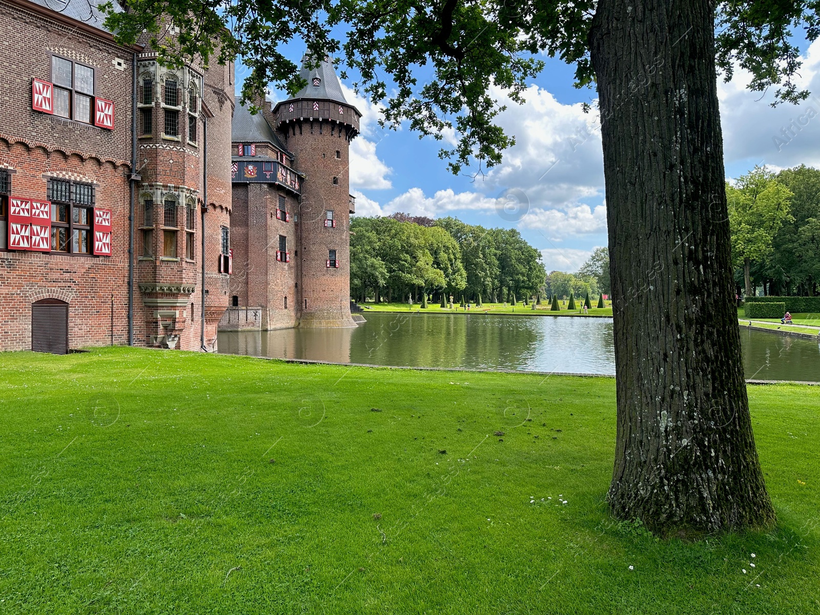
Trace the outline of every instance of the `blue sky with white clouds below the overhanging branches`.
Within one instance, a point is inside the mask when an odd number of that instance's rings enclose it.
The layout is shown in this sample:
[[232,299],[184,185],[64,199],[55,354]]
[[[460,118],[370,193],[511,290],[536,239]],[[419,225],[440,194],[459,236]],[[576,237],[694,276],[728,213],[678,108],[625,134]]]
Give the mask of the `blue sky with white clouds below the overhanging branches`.
[[[294,62],[302,52],[297,43],[286,48]],[[363,114],[362,134],[351,145],[351,192],[357,196],[358,215],[401,211],[515,227],[541,251],[548,271],[576,271],[595,247],[607,242],[598,119],[581,110],[595,94],[572,87],[572,66],[543,59],[546,66],[530,84],[526,103],[510,101],[498,118],[517,144],[504,153],[500,166],[476,179],[447,171],[438,157],[446,140],[419,139],[406,128],[380,129],[378,109],[343,81],[348,102]],[[820,41],[807,50],[800,72],[800,84],[813,96],[796,107],[770,107],[770,94],[745,89],[749,75],[743,71],[736,72],[731,84],[719,84],[728,179],[755,164],[775,170],[800,163],[820,166]],[[239,86],[241,67],[237,73]],[[494,93],[504,100],[503,92]],[[286,97],[274,91],[270,98]],[[791,134],[781,132],[788,126]]]

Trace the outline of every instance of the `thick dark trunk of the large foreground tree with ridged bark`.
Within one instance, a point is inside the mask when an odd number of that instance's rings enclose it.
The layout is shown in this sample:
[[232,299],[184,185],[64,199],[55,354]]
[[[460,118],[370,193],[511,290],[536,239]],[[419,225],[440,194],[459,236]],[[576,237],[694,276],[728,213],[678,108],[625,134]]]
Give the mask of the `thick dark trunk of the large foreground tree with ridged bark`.
[[617,372],[609,504],[663,535],[774,520],[740,355],[714,4],[600,0]]

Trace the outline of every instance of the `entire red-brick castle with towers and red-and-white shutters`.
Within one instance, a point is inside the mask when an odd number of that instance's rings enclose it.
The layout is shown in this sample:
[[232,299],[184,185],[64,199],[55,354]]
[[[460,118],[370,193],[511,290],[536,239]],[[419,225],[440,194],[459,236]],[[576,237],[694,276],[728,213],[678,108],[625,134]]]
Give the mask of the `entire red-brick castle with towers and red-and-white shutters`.
[[95,2],[4,0],[0,350],[213,351],[217,330],[355,326],[360,114],[331,63],[253,116],[233,62],[166,68],[117,44]]

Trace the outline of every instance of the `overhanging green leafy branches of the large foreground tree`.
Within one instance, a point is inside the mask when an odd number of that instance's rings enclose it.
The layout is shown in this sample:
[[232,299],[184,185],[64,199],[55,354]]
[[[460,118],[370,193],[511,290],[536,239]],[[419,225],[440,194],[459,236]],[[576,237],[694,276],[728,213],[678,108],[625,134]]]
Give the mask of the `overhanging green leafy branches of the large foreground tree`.
[[[246,102],[269,84],[296,93],[305,85],[285,45],[304,41],[312,57],[341,52],[354,83],[382,108],[385,125],[441,139],[453,172],[478,162],[494,166],[514,144],[495,118],[503,110],[491,86],[521,102],[527,80],[544,62],[540,53],[576,66],[576,86],[595,80],[590,30],[598,2],[559,0],[121,0],[107,25],[123,43],[148,39],[169,65],[202,57],[226,62],[237,55],[251,69]],[[818,0],[740,0],[717,5],[717,66],[727,80],[740,66],[749,88],[776,89],[778,101],[808,96],[798,89],[799,37],[820,34]],[[169,32],[175,36],[169,37]],[[344,32],[344,37],[341,34]],[[423,75],[423,76],[421,76]],[[645,76],[638,75],[645,82]]]

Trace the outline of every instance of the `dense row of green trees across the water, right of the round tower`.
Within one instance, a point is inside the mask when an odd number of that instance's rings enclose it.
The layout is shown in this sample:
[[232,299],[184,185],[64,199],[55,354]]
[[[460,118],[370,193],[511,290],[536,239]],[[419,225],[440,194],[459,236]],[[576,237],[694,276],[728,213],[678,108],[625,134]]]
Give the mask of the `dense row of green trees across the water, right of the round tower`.
[[350,295],[362,302],[499,303],[544,291],[541,254],[514,229],[397,213],[350,221]]

